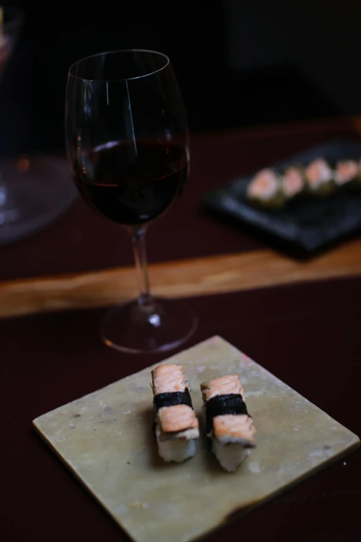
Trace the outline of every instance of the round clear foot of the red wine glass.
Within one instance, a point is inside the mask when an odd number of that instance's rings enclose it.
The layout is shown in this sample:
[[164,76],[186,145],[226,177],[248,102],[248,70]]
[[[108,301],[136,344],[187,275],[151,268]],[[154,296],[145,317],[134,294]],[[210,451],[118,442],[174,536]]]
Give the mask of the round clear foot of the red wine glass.
[[102,339],[120,352],[155,354],[185,343],[197,325],[198,318],[180,300],[156,298],[148,309],[131,301],[107,312]]

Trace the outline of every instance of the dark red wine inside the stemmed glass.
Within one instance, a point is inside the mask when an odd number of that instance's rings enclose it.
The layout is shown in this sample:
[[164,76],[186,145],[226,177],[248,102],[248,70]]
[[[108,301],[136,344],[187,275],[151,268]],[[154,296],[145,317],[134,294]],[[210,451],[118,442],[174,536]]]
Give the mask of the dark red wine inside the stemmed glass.
[[73,176],[86,204],[118,224],[135,226],[165,213],[183,190],[187,167],[185,147],[111,141],[77,151]]

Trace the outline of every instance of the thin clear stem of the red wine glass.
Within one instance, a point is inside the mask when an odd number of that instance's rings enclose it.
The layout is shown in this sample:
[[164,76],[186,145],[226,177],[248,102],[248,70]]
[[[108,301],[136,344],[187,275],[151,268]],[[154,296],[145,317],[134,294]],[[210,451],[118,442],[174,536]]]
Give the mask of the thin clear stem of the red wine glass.
[[145,250],[146,228],[131,228],[131,240],[133,242],[134,260],[138,275],[138,303],[140,307],[149,309],[153,307],[153,300],[150,294],[149,275],[147,266],[147,252]]

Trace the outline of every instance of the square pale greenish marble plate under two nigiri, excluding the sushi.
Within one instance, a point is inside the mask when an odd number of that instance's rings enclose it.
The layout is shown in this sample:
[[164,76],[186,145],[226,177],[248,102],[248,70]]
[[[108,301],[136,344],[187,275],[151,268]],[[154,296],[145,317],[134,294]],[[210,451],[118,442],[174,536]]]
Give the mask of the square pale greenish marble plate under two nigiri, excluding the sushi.
[[239,374],[258,445],[236,473],[219,467],[206,437],[183,464],[158,457],[151,430],[152,367],[33,422],[135,541],[201,538],[360,444],[351,431],[219,336],[169,362],[184,366],[197,413],[202,381]]

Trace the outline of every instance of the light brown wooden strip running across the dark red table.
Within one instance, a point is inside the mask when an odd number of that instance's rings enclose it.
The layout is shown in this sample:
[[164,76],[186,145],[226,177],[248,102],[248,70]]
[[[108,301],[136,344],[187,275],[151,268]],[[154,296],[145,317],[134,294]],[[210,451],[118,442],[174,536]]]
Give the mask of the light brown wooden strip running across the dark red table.
[[[191,297],[361,275],[361,240],[299,262],[270,249],[149,266],[155,296]],[[131,267],[6,280],[0,283],[0,317],[105,307],[136,298]]]

